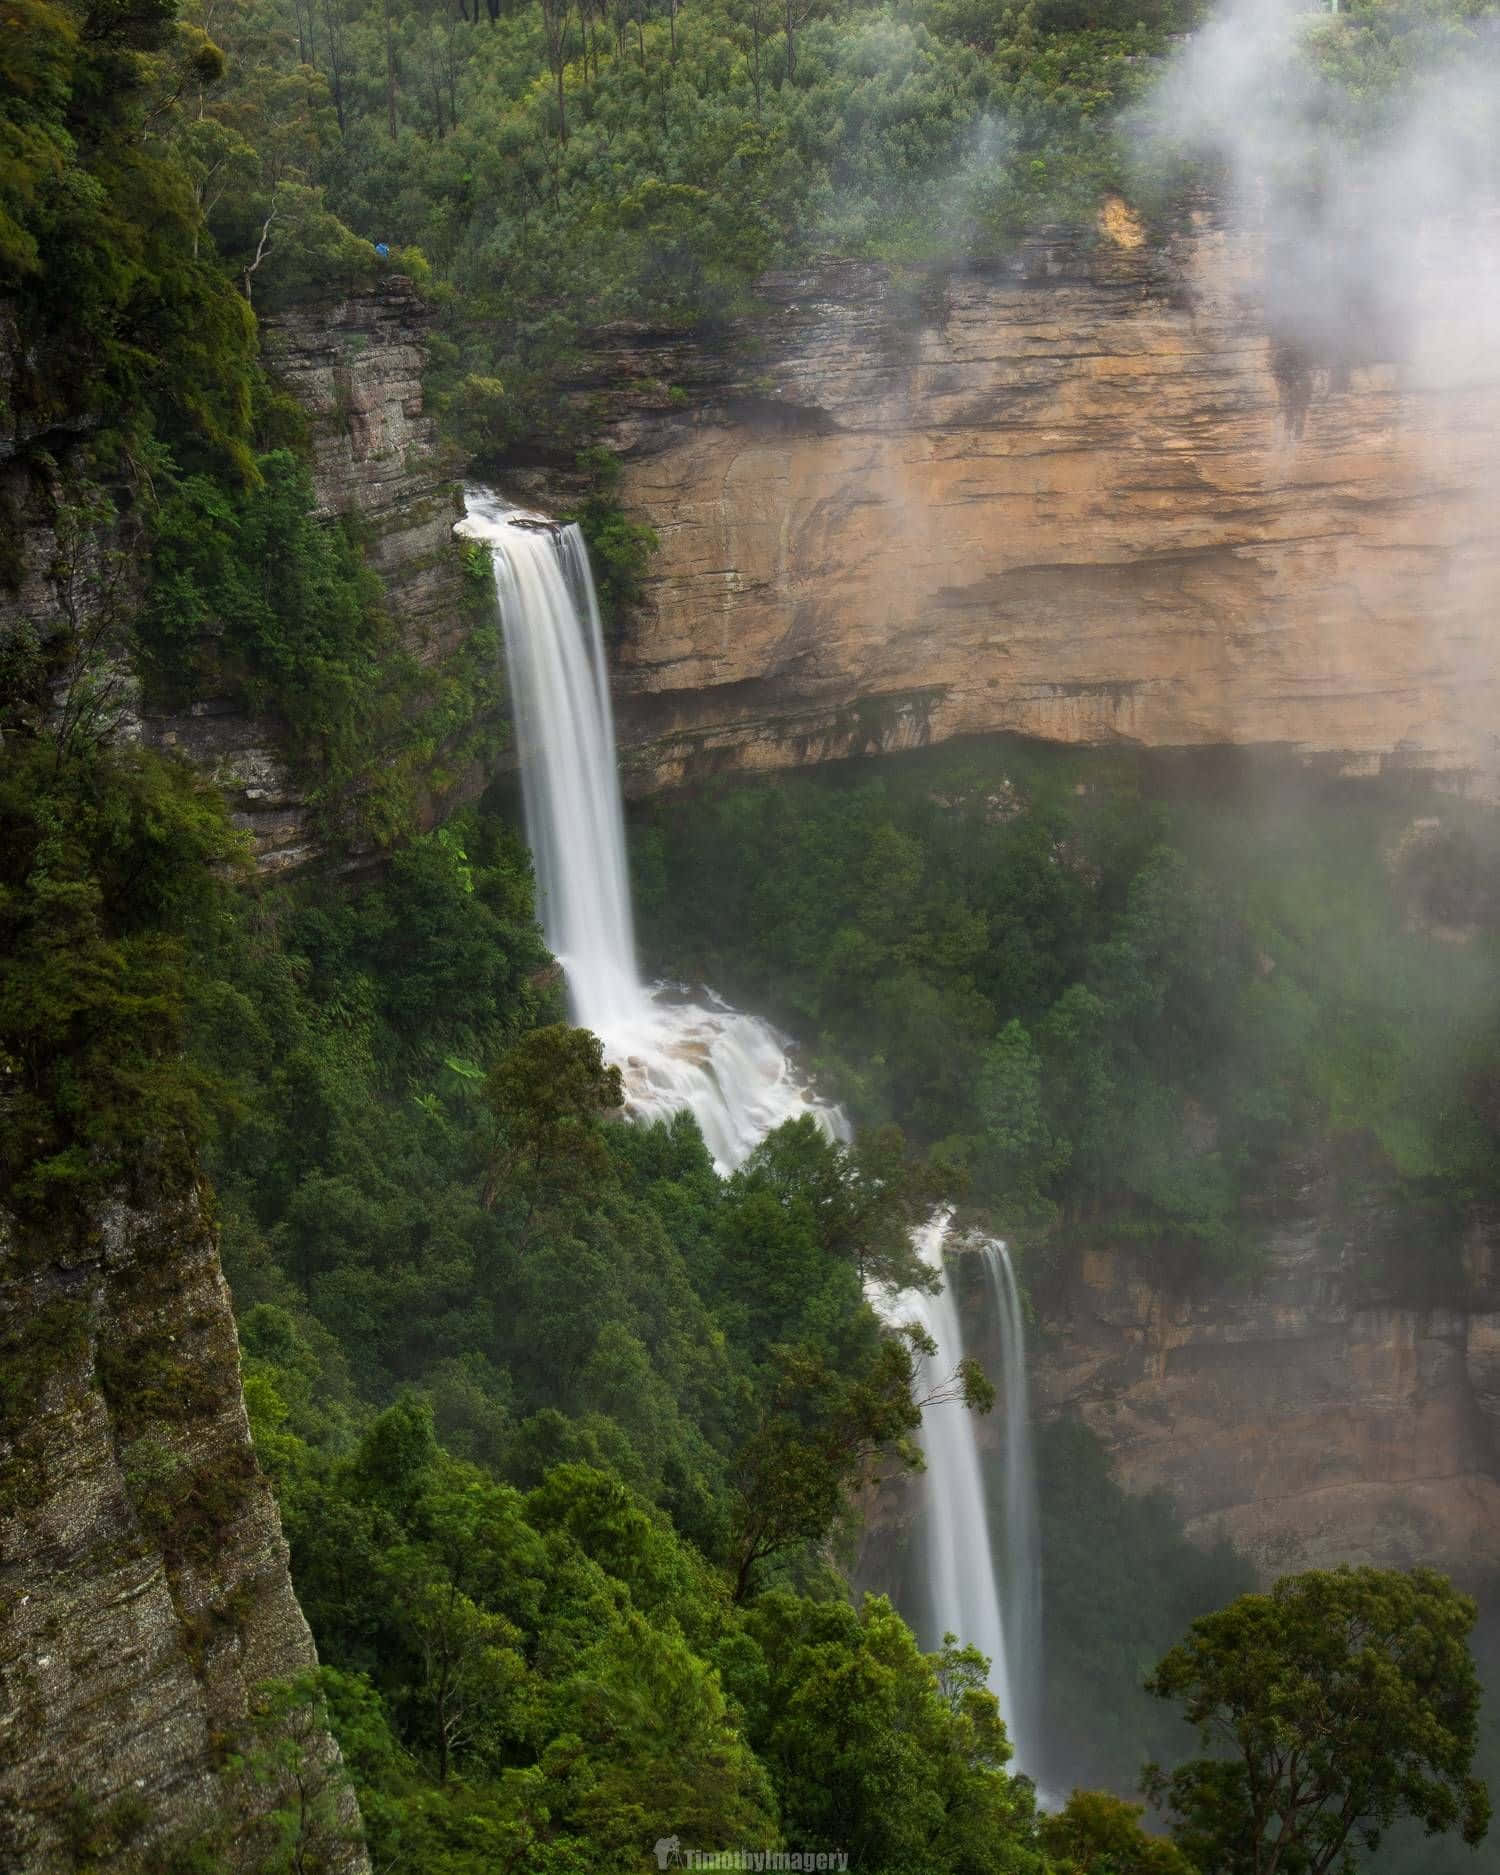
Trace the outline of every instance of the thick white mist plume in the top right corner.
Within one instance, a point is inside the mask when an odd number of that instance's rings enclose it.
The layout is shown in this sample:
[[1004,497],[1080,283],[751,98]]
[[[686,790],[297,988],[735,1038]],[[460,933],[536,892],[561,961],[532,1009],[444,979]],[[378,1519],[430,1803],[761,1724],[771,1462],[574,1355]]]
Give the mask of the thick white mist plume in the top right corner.
[[[1271,336],[1311,368],[1491,379],[1500,34],[1432,13],[1404,24],[1380,4],[1329,15],[1230,0],[1134,124],[1151,154],[1185,146],[1222,163],[1236,219],[1268,236]],[[1391,81],[1386,62],[1408,69]]]

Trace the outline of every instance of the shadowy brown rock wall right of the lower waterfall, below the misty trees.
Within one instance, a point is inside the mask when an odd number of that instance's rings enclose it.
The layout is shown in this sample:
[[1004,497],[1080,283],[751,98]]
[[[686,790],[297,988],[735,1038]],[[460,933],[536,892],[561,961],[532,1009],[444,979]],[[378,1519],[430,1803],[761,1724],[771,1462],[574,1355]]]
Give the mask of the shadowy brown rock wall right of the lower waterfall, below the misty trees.
[[1410,1226],[1335,1187],[1322,1164],[1290,1174],[1238,1286],[1072,1260],[1042,1309],[1037,1412],[1082,1418],[1129,1491],[1168,1491],[1194,1541],[1226,1538],[1266,1579],[1421,1562],[1472,1581],[1500,1554],[1496,1221],[1421,1296]]

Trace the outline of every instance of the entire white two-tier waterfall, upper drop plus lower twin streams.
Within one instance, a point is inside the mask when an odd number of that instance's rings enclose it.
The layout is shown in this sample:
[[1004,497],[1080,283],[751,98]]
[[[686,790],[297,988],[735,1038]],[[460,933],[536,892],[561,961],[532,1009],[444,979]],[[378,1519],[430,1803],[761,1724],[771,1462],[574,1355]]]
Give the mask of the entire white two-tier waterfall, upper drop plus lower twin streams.
[[[647,986],[636,966],[624,808],[598,600],[578,527],[523,514],[467,489],[458,532],[491,549],[506,669],[521,756],[527,838],[536,864],[542,928],[568,981],[574,1020],[592,1029],[624,1076],[626,1106],[641,1119],[690,1108],[720,1172],[731,1172],[774,1127],[814,1114],[848,1138],[842,1108],[797,1078],[788,1044],[765,1022],[712,992],[694,999]],[[943,1269],[949,1213],[913,1238]],[[1035,1738],[1041,1564],[1026,1395],[1026,1344],[1005,1247],[982,1243],[996,1301],[1005,1402],[1005,1541],[996,1569],[975,1416],[960,1404],[922,1416],[926,1453],[926,1579],[938,1646],[945,1631],[990,1659],[990,1688],[1024,1764]],[[964,1356],[951,1282],[938,1296],[878,1298],[891,1320],[917,1318],[938,1344],[922,1361],[930,1384]]]

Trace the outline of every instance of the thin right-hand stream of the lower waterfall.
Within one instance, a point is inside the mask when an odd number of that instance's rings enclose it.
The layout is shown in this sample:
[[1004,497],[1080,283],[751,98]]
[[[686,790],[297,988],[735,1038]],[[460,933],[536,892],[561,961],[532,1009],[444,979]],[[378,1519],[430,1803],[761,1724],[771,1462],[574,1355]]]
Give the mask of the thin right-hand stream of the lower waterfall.
[[1011,1667],[1011,1736],[1029,1746],[1041,1721],[1042,1545],[1037,1515],[1037,1464],[1031,1451],[1031,1388],[1026,1376],[1026,1324],[1011,1252],[996,1239],[981,1254],[990,1277],[999,1333],[999,1384],[1005,1408],[1005,1658]]

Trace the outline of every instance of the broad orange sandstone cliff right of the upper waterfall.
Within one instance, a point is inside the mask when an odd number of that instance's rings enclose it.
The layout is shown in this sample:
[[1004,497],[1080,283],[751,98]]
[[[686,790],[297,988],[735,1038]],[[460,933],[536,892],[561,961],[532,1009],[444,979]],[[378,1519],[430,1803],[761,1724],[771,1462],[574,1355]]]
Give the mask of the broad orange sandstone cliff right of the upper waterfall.
[[602,347],[662,540],[615,664],[636,791],[992,729],[1496,786],[1500,360],[1444,306],[1404,360],[1309,360],[1258,236],[1114,232]]

